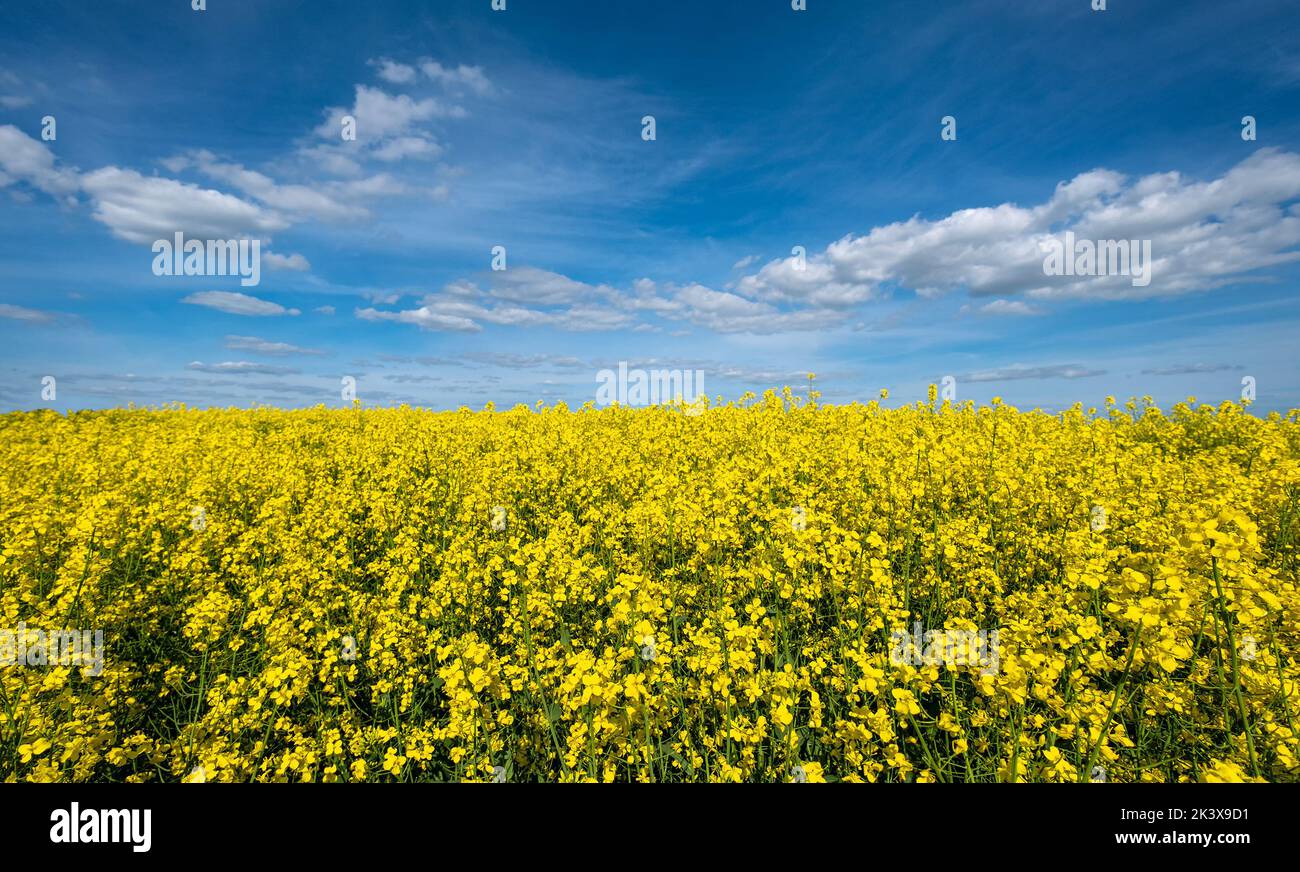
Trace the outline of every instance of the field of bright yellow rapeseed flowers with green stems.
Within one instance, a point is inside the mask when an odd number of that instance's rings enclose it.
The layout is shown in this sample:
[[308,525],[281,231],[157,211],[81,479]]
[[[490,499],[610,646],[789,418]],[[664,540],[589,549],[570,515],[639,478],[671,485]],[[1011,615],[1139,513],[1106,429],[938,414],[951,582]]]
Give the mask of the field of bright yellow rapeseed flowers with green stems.
[[1297,417],[4,415],[0,780],[1296,781]]

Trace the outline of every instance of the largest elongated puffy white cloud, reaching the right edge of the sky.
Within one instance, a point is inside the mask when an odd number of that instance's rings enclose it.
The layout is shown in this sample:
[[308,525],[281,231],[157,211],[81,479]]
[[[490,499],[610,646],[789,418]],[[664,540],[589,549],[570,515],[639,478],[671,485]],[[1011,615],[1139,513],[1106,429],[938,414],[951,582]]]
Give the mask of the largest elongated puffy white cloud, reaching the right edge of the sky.
[[[1036,207],[1004,203],[944,218],[913,217],[846,235],[811,255],[771,261],[737,282],[748,298],[850,307],[889,285],[933,295],[1136,299],[1204,290],[1300,259],[1300,156],[1260,149],[1218,179],[1178,173],[1128,181],[1092,170],[1057,186]],[[1071,230],[1079,239],[1150,239],[1153,279],[1045,276],[1044,243]],[[802,266],[802,269],[801,269]]]

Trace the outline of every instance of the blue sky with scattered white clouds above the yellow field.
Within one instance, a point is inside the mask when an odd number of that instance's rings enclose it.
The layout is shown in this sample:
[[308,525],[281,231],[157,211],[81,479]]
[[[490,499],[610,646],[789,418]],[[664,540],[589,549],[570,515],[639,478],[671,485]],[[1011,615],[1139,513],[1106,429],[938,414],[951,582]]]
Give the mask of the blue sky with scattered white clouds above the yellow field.
[[[207,5],[0,8],[0,409],[577,405],[620,360],[1300,407],[1292,3]],[[1149,285],[1046,276],[1067,230]],[[155,276],[176,231],[260,283]]]

